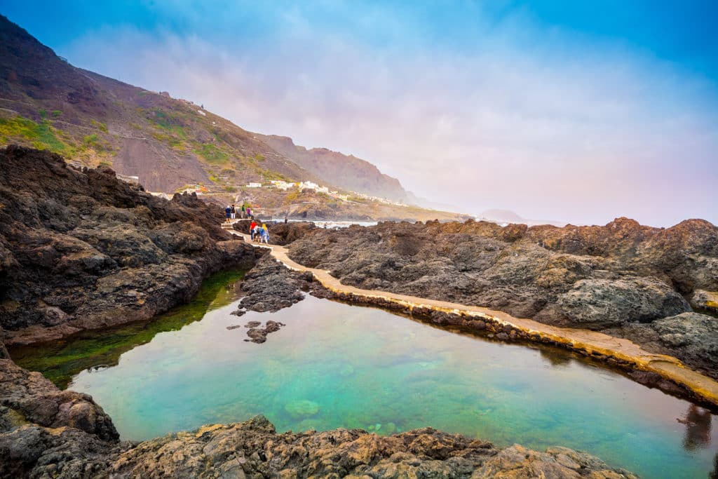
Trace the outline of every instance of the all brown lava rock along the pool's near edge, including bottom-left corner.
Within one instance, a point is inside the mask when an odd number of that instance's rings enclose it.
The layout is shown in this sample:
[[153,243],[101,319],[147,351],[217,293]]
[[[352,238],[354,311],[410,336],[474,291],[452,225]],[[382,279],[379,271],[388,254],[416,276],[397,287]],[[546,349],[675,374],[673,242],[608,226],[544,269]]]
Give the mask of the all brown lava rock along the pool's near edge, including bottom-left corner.
[[0,360],[0,477],[16,478],[635,478],[584,452],[490,442],[424,428],[277,434],[264,417],[145,442],[120,442],[86,394]]

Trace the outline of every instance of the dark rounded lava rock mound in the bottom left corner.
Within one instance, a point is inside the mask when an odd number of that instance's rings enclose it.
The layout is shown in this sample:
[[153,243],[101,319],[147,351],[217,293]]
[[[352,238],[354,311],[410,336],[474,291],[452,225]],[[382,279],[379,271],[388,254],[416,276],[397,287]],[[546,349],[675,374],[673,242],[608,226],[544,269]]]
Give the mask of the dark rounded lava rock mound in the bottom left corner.
[[87,394],[60,391],[40,373],[0,360],[0,477],[107,475],[131,447]]

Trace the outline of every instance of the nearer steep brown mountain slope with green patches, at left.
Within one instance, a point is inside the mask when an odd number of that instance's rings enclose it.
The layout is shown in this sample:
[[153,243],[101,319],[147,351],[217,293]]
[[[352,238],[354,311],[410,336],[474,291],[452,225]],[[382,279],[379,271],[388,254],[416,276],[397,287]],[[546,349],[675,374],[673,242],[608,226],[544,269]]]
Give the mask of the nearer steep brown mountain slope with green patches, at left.
[[111,164],[155,191],[319,180],[192,102],[73,67],[0,16],[0,145],[9,143]]

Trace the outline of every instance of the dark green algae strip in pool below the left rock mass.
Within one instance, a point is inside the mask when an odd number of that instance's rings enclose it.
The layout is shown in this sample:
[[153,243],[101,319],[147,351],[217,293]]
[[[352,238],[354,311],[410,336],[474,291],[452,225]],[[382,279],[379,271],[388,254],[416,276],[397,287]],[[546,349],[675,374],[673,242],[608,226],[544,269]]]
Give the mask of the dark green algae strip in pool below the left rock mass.
[[221,271],[202,283],[194,298],[150,321],[105,330],[86,331],[72,338],[39,346],[11,348],[11,358],[29,371],[40,371],[60,389],[87,368],[114,366],[122,353],[149,343],[160,332],[177,331],[199,321],[208,311],[237,299],[233,284],[244,271]]

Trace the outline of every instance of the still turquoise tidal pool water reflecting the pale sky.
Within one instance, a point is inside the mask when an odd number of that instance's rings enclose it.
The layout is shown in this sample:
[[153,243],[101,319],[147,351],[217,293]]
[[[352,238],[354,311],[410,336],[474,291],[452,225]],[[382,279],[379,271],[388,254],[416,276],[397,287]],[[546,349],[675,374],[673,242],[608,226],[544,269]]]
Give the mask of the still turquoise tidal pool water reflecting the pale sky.
[[[236,317],[228,294],[180,330],[146,325],[155,330],[149,343],[128,347],[132,337],[122,330],[121,355],[83,369],[68,388],[91,394],[125,440],[264,414],[280,432],[431,426],[498,446],[563,445],[646,478],[706,478],[718,467],[714,414],[572,353],[309,296],[280,312]],[[169,317],[177,321],[183,308]],[[244,341],[245,327],[226,329],[269,319],[286,327],[261,345]],[[112,337],[106,332],[105,343]],[[57,367],[62,351],[85,348],[83,368],[107,363],[93,359],[96,341],[24,350],[17,361],[27,367],[35,358],[42,370],[37,358],[55,358]]]

